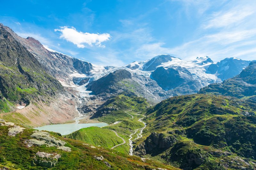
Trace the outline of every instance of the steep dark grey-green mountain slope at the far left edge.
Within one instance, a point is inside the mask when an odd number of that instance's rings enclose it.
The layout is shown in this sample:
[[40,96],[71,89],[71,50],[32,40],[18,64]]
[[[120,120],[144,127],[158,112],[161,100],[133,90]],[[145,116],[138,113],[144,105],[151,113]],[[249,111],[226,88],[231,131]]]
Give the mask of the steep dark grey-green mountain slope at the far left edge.
[[61,84],[0,24],[0,112],[33,100],[49,101],[48,97],[62,90]]

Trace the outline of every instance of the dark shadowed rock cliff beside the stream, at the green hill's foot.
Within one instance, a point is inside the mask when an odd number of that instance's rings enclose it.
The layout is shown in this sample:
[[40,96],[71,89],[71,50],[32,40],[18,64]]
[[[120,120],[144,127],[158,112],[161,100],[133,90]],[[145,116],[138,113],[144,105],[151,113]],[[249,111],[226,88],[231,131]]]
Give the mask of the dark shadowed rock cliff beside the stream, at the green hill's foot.
[[177,140],[174,136],[164,136],[162,133],[153,132],[147,139],[134,150],[135,155],[151,154],[155,156],[174,145]]

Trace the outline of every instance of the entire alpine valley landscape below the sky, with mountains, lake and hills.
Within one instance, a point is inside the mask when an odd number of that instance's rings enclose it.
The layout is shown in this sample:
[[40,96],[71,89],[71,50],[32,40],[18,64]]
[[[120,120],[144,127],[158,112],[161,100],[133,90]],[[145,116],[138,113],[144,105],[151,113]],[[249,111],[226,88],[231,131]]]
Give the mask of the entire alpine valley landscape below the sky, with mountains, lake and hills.
[[99,66],[0,24],[0,169],[256,168],[256,62]]

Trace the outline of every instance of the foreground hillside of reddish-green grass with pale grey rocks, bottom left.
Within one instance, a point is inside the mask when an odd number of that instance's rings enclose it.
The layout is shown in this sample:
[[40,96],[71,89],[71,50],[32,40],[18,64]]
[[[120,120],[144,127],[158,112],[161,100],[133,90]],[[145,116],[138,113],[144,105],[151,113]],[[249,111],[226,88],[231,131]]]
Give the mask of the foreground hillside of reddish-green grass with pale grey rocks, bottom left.
[[[79,140],[63,138],[56,133],[25,128],[16,134],[12,131],[13,128],[22,127],[0,121],[0,168],[146,169],[161,167],[172,169],[172,166],[152,160],[143,162],[139,157],[127,156],[102,147],[95,148]],[[101,156],[102,160],[96,159]]]

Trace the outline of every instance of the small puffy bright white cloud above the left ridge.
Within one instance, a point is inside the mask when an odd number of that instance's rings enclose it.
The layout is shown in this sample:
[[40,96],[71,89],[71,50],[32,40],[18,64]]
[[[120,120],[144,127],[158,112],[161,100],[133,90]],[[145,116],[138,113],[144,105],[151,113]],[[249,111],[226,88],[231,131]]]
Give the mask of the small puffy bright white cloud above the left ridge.
[[60,29],[55,29],[54,31],[60,31],[60,38],[74,43],[78,48],[85,48],[84,44],[88,44],[90,46],[96,45],[104,48],[105,45],[101,45],[101,43],[110,39],[110,35],[108,33],[83,33],[81,31],[78,32],[75,27],[64,26],[60,27]]

